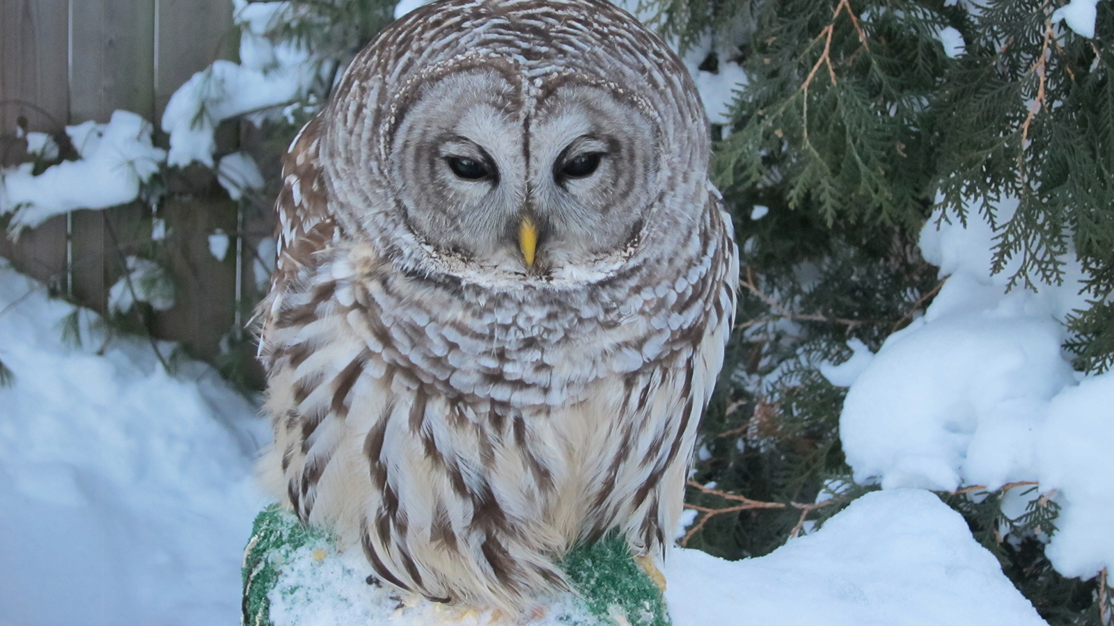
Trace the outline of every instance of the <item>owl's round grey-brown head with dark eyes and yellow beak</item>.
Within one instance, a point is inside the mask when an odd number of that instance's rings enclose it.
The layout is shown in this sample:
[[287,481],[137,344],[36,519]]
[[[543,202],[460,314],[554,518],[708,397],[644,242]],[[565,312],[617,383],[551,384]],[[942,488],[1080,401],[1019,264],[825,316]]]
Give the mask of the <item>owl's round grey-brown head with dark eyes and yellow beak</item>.
[[597,282],[706,211],[695,87],[604,0],[428,4],[356,57],[326,115],[341,218],[411,272]]

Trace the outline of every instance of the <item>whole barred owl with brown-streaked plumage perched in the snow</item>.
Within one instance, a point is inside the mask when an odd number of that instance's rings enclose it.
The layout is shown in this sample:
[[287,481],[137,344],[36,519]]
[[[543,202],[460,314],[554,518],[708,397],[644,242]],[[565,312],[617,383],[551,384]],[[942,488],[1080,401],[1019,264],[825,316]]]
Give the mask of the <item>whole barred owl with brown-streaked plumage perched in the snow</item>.
[[737,251],[696,89],[605,0],[442,0],[286,156],[261,475],[375,575],[524,610],[672,542]]

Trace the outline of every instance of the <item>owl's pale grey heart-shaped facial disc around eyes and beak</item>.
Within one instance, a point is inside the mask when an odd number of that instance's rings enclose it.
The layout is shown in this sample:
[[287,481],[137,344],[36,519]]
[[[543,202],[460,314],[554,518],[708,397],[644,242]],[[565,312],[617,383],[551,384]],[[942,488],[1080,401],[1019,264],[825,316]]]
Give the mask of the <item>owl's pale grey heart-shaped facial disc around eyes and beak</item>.
[[605,89],[521,98],[492,70],[428,85],[403,113],[390,173],[436,268],[508,281],[599,273],[651,203],[653,125]]

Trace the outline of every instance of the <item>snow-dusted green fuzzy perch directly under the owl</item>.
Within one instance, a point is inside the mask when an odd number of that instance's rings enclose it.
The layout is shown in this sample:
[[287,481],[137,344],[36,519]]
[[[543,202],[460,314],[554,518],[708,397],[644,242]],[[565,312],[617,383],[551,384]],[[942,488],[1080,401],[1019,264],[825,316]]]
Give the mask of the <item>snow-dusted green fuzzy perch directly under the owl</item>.
[[[662,594],[610,536],[569,552],[563,567],[576,588],[536,613],[532,626],[667,626]],[[247,626],[397,626],[510,624],[495,610],[427,601],[379,584],[359,550],[338,551],[326,535],[271,506],[255,518],[244,552]]]

